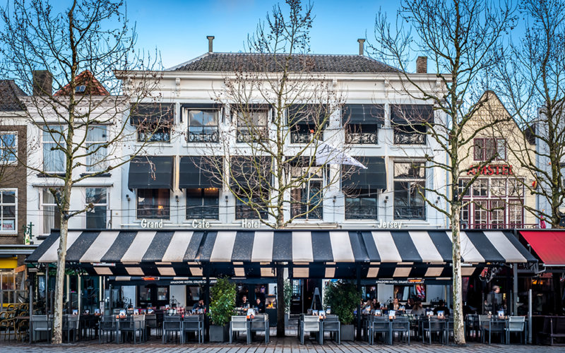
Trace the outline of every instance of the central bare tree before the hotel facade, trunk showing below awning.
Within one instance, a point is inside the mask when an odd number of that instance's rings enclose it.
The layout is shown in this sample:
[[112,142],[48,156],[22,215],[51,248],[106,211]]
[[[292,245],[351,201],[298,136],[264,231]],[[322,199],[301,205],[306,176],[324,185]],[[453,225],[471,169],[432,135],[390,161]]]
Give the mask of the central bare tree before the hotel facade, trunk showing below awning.
[[[276,229],[323,218],[323,202],[340,178],[331,164],[347,157],[340,129],[328,129],[342,97],[308,55],[312,6],[286,3],[288,13],[275,5],[259,23],[248,38],[249,53],[215,91],[231,125],[202,153],[237,199],[236,213]],[[284,336],[283,270],[277,275],[277,334]]]

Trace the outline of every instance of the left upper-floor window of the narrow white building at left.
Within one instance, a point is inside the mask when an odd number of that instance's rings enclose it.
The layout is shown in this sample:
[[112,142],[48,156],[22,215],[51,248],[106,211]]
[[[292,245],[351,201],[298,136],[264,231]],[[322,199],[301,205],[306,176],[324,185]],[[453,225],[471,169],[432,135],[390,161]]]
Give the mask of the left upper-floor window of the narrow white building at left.
[[43,133],[43,171],[47,173],[63,173],[65,171],[64,130],[61,125],[49,125],[42,128]]

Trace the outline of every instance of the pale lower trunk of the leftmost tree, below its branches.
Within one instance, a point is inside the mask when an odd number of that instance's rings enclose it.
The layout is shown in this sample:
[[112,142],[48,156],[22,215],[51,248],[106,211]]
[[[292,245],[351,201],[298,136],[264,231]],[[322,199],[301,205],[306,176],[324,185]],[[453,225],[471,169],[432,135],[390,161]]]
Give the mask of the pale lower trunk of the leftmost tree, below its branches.
[[[55,278],[55,308],[53,313],[53,343],[59,345],[63,342],[63,293],[65,279],[66,241],[69,231],[69,220],[61,217],[61,237],[57,250],[57,277]],[[49,268],[48,268],[49,269]],[[69,300],[69,298],[67,298]]]

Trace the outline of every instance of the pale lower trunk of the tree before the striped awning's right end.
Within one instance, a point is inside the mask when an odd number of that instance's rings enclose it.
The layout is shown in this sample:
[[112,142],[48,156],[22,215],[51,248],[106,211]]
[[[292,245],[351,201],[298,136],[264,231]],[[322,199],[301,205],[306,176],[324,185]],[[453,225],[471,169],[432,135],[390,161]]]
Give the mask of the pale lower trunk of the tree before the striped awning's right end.
[[451,205],[451,236],[453,240],[453,337],[456,345],[465,345],[463,297],[461,293],[461,240],[458,205]]

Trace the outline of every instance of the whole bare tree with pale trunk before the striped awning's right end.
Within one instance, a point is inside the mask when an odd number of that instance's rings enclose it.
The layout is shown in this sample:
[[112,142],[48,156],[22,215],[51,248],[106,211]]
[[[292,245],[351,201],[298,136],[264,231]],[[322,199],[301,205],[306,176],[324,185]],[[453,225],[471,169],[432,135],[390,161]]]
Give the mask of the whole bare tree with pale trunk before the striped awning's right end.
[[[492,68],[492,49],[513,24],[513,11],[508,4],[482,0],[425,0],[403,1],[396,16],[396,27],[391,27],[386,15],[376,16],[374,55],[400,69],[399,78],[403,93],[415,100],[433,104],[434,121],[420,119],[425,134],[445,153],[445,162],[427,156],[427,167],[448,172],[446,192],[420,187],[419,193],[439,195],[448,208],[443,209],[436,200],[425,198],[427,203],[444,213],[449,220],[453,241],[453,314],[455,341],[465,343],[463,330],[463,302],[461,297],[461,246],[460,210],[463,195],[480,174],[465,179],[460,176],[468,170],[462,168],[460,155],[463,146],[472,142],[489,124],[465,133],[471,117],[484,104],[480,99],[480,75]],[[415,46],[412,47],[412,46]],[[421,83],[408,73],[412,53],[432,59],[436,83]],[[480,92],[478,91],[480,90]],[[414,118],[407,124],[415,124]],[[480,165],[487,164],[489,160]]]

